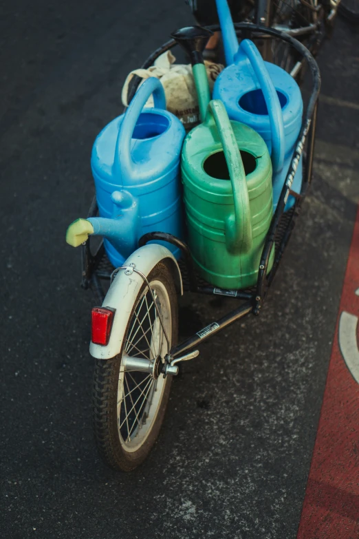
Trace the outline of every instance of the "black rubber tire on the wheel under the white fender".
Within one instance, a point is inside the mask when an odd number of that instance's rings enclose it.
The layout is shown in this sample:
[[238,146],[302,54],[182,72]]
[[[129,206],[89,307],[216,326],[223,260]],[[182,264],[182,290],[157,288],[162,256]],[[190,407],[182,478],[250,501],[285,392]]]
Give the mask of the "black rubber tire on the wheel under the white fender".
[[[178,333],[178,308],[177,308],[177,293],[171,273],[171,268],[166,261],[162,261],[151,271],[147,277],[149,282],[154,279],[159,280],[166,287],[169,301],[171,304],[172,317],[172,335],[171,344],[177,344]],[[142,286],[138,297],[142,294],[146,285]],[[129,324],[135,306],[138,302],[136,299],[132,313],[129,317],[126,332],[129,330]],[[118,376],[122,361],[122,350],[120,354],[112,359],[95,360],[94,370],[94,391],[93,391],[93,425],[96,445],[98,452],[105,463],[115,470],[122,472],[130,472],[135,467],[138,467],[146,456],[151,451],[153,444],[156,441],[160,428],[164,420],[164,414],[168,403],[168,397],[171,390],[172,377],[166,377],[166,385],[162,395],[157,416],[153,422],[153,426],[146,440],[140,448],[133,452],[125,452],[120,444],[118,436],[118,419],[117,419],[117,399],[118,399]]]

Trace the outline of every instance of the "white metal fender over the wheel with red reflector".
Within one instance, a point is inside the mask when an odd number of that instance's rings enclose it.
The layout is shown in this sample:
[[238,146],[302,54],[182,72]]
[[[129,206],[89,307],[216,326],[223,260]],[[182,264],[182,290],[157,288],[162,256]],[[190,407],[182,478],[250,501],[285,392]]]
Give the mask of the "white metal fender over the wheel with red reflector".
[[[177,260],[168,251],[166,247],[159,244],[147,244],[137,251],[134,251],[124,262],[123,266],[135,264],[135,269],[143,273],[146,277],[151,273],[153,268],[161,262],[161,260],[169,259],[173,266],[173,277],[177,292],[183,293],[181,271],[179,270]],[[101,346],[100,344],[90,344],[90,354],[96,359],[111,359],[116,356],[121,349],[124,339],[124,332],[127,328],[129,317],[133,309],[133,304],[138,295],[140,288],[144,284],[144,280],[138,273],[126,275],[124,270],[119,270],[116,277],[113,279],[111,286],[102,303],[102,307],[110,307],[116,309],[113,317],[113,324],[109,344]]]

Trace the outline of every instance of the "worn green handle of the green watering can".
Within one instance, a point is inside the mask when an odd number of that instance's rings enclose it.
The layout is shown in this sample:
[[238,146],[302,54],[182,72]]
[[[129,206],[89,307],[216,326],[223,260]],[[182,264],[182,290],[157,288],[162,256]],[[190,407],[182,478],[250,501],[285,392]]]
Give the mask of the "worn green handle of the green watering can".
[[215,99],[207,109],[206,125],[215,122],[226,158],[232,184],[235,214],[226,220],[226,245],[228,251],[239,254],[252,249],[252,223],[246,173],[235,133],[224,104]]

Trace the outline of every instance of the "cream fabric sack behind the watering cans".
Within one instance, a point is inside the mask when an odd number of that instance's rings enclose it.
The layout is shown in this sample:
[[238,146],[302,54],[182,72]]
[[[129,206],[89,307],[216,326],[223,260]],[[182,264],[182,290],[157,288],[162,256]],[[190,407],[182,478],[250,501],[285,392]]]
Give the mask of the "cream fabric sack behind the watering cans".
[[[127,103],[127,92],[131,78],[138,75],[142,82],[150,76],[159,78],[166,94],[166,107],[181,120],[186,130],[191,129],[199,123],[199,108],[195,82],[193,81],[192,66],[190,64],[175,64],[175,56],[170,51],[161,54],[154,65],[148,70],[134,70],[126,78],[122,88],[122,103],[125,107]],[[205,61],[208,75],[210,92],[213,91],[215,80],[224,66],[218,63]],[[142,84],[140,83],[140,85]],[[153,107],[153,98],[149,98],[146,107]]]

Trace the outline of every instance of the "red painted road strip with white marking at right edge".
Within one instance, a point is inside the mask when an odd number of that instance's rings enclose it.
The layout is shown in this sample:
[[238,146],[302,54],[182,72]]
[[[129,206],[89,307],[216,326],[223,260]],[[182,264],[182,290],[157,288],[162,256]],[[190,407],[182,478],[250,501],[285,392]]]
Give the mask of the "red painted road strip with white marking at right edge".
[[359,539],[358,288],[359,207],[297,539]]

